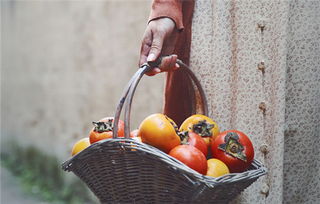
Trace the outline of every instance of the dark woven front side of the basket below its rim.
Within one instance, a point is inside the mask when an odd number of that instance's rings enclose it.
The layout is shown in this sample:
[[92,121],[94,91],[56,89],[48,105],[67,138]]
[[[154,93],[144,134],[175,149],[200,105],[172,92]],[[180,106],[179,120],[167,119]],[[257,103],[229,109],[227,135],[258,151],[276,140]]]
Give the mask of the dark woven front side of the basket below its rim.
[[109,143],[90,155],[73,163],[72,171],[102,203],[190,203],[197,187],[162,160],[128,145]]

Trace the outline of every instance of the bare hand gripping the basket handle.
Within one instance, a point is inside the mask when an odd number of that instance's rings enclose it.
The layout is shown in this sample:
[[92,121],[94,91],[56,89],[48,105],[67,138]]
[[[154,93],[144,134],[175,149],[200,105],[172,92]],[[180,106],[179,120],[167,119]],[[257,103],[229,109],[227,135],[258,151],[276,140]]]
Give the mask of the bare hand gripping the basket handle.
[[[177,40],[178,31],[170,18],[159,18],[151,21],[144,33],[140,51],[139,65],[154,62],[160,55],[172,54]],[[149,76],[163,71],[179,68],[176,64],[177,55],[162,58],[161,64],[146,73]]]

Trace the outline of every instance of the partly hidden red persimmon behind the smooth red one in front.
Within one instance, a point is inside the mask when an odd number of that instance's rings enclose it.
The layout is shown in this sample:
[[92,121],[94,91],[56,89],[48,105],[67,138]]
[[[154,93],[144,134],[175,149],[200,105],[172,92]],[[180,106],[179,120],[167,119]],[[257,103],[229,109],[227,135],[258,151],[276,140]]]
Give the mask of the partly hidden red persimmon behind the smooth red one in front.
[[179,133],[179,136],[182,140],[181,144],[187,144],[196,147],[199,149],[204,156],[208,155],[208,146],[199,134],[192,131],[185,131],[183,133]]

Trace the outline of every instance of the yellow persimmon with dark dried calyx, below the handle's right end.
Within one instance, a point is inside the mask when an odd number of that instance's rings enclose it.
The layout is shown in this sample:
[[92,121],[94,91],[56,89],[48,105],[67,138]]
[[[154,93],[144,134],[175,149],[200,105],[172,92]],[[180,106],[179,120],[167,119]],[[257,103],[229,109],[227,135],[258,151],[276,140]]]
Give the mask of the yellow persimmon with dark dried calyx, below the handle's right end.
[[180,126],[181,132],[192,131],[203,137],[207,146],[210,145],[211,140],[219,134],[220,130],[218,124],[211,118],[205,115],[192,115],[187,118]]

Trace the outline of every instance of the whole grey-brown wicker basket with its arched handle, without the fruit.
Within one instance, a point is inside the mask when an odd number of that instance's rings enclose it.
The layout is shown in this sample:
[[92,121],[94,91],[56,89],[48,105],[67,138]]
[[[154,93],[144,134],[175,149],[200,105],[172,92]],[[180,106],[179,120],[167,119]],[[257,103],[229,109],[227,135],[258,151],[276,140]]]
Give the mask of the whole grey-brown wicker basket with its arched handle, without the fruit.
[[[178,60],[198,88],[202,103],[206,98],[199,81],[190,69]],[[180,161],[150,145],[129,139],[130,110],[133,94],[141,77],[150,70],[143,65],[128,83],[117,107],[114,124],[125,107],[125,137],[99,141],[62,164],[65,171],[80,177],[101,203],[227,203],[260,176],[266,168],[254,160],[243,173],[219,178],[199,174]],[[127,100],[126,100],[127,99]],[[204,105],[204,114],[207,106]]]

